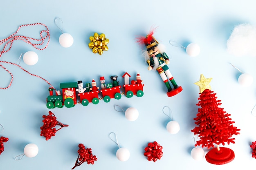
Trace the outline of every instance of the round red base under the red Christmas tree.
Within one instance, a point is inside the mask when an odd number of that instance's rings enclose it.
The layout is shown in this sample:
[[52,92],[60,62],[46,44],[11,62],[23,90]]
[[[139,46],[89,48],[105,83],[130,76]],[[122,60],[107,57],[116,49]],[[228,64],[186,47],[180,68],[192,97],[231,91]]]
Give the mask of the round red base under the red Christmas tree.
[[213,148],[205,155],[205,159],[207,160],[207,162],[215,165],[223,165],[229,163],[233,161],[234,158],[234,151],[224,147],[220,147],[219,151],[217,148]]

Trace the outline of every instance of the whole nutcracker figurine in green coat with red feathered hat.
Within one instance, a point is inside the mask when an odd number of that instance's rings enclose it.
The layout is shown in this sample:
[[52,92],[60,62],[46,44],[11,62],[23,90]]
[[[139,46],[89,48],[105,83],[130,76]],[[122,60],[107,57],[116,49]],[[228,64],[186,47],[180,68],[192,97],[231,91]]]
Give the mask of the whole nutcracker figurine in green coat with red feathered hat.
[[[180,93],[182,91],[182,87],[178,86],[173,79],[173,76],[169,71],[169,67],[167,66],[167,64],[170,63],[169,57],[161,48],[159,48],[159,43],[153,37],[153,33],[154,29],[152,29],[146,37],[137,38],[137,42],[146,46],[147,52],[144,54],[146,62],[148,63],[148,71],[153,69],[158,72],[168,89],[167,96],[171,97]],[[171,81],[173,89],[171,88],[168,79]]]

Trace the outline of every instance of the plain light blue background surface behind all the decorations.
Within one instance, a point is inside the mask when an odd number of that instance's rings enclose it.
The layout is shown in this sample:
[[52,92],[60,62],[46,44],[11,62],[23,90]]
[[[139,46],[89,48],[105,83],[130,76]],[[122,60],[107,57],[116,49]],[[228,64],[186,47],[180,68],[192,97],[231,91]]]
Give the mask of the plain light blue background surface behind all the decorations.
[[[227,170],[254,167],[256,160],[251,157],[250,144],[256,140],[256,117],[251,111],[256,104],[255,81],[252,86],[243,88],[238,84],[240,73],[229,63],[234,64],[254,79],[255,57],[235,57],[227,53],[226,42],[237,24],[249,23],[256,26],[256,2],[254,0],[129,0],[129,1],[85,1],[85,0],[6,0],[1,2],[0,39],[7,38],[22,24],[43,23],[50,30],[51,40],[47,49],[38,51],[22,41],[13,43],[8,53],[0,60],[16,63],[20,53],[35,51],[39,61],[28,66],[21,61],[20,66],[30,73],[47,79],[59,89],[61,82],[90,82],[104,76],[110,82],[111,75],[121,76],[128,72],[132,77],[139,72],[144,80],[144,96],[112,99],[109,103],[81,104],[74,108],[54,108],[51,111],[58,121],[68,124],[49,141],[40,136],[42,115],[48,114],[46,97],[48,84],[32,77],[20,68],[3,64],[14,80],[11,87],[0,91],[0,124],[8,137],[4,152],[0,155],[0,170],[70,170],[78,156],[78,144],[92,148],[98,161],[94,165],[83,163],[76,170]],[[74,44],[63,48],[58,37],[61,31],[54,24],[54,18],[63,20],[63,32],[70,33]],[[146,35],[151,26],[159,26],[155,38],[166,45],[171,57],[170,69],[183,91],[167,97],[166,88],[157,73],[149,72],[135,42],[137,35]],[[26,27],[20,35],[39,38],[42,27]],[[109,50],[103,55],[92,53],[89,37],[104,33],[109,39]],[[171,46],[169,41],[182,45],[198,43],[201,53],[189,57],[184,49]],[[3,47],[1,46],[1,49]],[[231,114],[240,135],[234,136],[236,144],[226,144],[235,152],[235,159],[225,165],[212,165],[205,159],[195,161],[190,151],[194,147],[193,118],[197,114],[199,87],[194,84],[200,74],[212,77],[211,88],[222,100],[221,107]],[[0,86],[9,84],[10,75],[0,68]],[[124,109],[135,107],[139,110],[136,121],[128,121],[124,113],[114,110],[114,105]],[[169,118],[162,108],[169,106],[173,119],[180,123],[180,132],[171,135],[165,126]],[[115,132],[121,147],[128,148],[130,159],[121,162],[115,157],[117,145],[108,134]],[[143,155],[148,142],[157,141],[163,146],[161,160],[148,161]],[[34,158],[14,157],[23,153],[26,144],[35,143],[39,152]],[[205,149],[207,153],[207,149]]]

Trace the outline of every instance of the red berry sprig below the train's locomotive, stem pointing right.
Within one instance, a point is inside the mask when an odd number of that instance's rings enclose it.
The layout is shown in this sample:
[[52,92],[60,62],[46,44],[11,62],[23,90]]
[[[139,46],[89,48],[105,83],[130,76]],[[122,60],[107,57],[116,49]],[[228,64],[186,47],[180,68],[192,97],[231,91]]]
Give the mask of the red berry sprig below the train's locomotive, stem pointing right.
[[55,133],[61,128],[57,129],[55,126],[67,127],[68,125],[64,125],[61,122],[57,121],[54,113],[49,111],[49,115],[43,115],[43,126],[40,127],[41,133],[40,135],[45,137],[45,140],[51,139],[52,136],[55,136]]

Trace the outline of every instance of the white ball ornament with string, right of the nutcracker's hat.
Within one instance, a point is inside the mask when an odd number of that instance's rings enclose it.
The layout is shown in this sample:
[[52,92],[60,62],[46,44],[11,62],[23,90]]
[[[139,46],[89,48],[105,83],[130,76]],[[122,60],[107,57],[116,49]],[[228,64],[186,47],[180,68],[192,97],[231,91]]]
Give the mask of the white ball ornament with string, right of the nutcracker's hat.
[[180,47],[182,49],[186,49],[186,53],[190,56],[190,57],[196,57],[199,55],[200,53],[200,46],[194,42],[190,43],[189,45],[187,45],[186,47],[182,46],[181,44],[178,44],[175,41],[169,41],[169,43],[172,46],[176,46],[176,47]]

